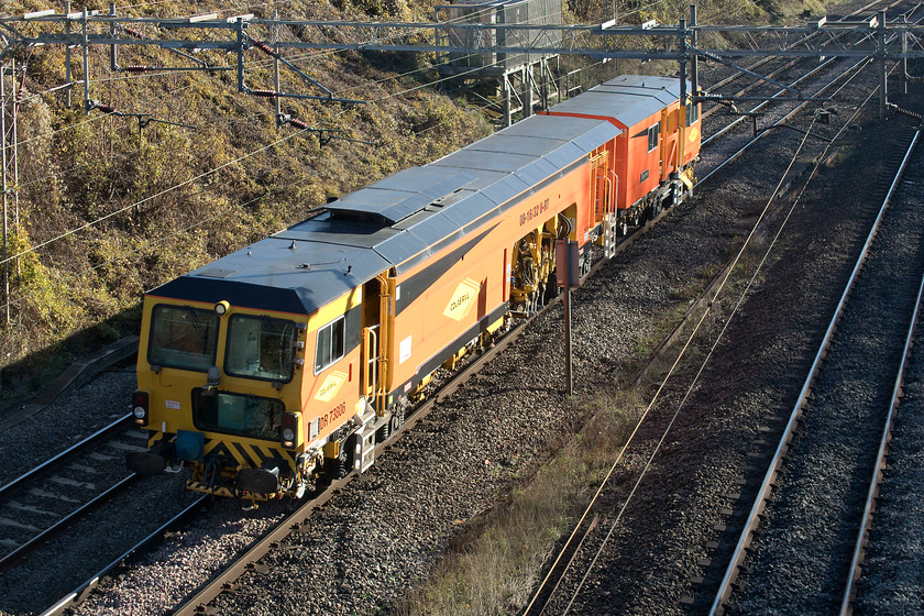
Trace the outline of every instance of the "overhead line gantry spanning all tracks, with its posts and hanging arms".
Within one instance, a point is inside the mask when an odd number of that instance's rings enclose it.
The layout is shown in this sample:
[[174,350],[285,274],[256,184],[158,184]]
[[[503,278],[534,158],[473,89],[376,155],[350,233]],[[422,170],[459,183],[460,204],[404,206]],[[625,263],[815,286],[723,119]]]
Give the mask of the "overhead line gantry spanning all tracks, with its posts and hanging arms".
[[[871,57],[881,66],[880,113],[887,110],[884,84],[886,63],[924,57],[924,25],[902,21],[888,22],[884,11],[860,21],[827,21],[820,19],[802,25],[707,25],[696,23],[695,7],[690,20],[666,25],[649,22],[640,25],[617,25],[615,20],[600,24],[554,25],[535,23],[498,24],[465,21],[432,22],[362,22],[318,21],[295,19],[262,19],[253,14],[219,18],[218,14],[187,18],[142,18],[116,14],[114,3],[109,12],[84,9],[79,12],[58,14],[53,10],[0,16],[0,62],[18,48],[34,45],[67,45],[80,47],[84,54],[84,74],[88,74],[88,50],[91,46],[110,47],[113,70],[142,70],[148,67],[118,64],[118,47],[140,46],[168,50],[188,64],[176,67],[157,67],[163,70],[235,70],[238,88],[246,94],[275,98],[312,99],[330,102],[362,102],[337,98],[302,69],[282,56],[284,50],[301,51],[375,51],[422,52],[462,54],[530,54],[587,55],[600,59],[672,61],[680,64],[680,75],[688,74],[692,63],[694,95],[698,96],[696,63],[708,58],[738,67],[735,58],[744,57]],[[75,28],[77,26],[77,28]],[[151,32],[150,34],[147,32]],[[468,32],[459,36],[460,32]],[[172,36],[172,34],[177,36]],[[854,45],[840,34],[855,33],[865,44]],[[451,34],[454,34],[451,35]],[[721,34],[734,41],[736,34],[757,37],[760,44],[706,47],[700,44],[706,35]],[[821,34],[799,47],[790,46],[798,36]],[[635,38],[639,44],[625,48],[625,40]],[[645,48],[641,43],[658,42],[657,48]],[[503,41],[503,44],[496,42]],[[513,42],[513,43],[512,43]],[[270,56],[278,72],[279,66],[320,94],[300,94],[276,89],[252,89],[245,74],[245,52],[257,48]],[[212,65],[196,57],[198,52],[221,51],[235,58],[233,64]],[[760,77],[757,75],[757,77]],[[763,77],[760,77],[763,78]],[[75,82],[79,84],[79,81]],[[85,109],[95,108],[90,98],[88,79],[82,79]],[[804,100],[799,92],[796,98]],[[686,79],[681,78],[682,100],[686,100]],[[277,105],[278,109],[278,105]],[[278,112],[277,112],[278,116]]]

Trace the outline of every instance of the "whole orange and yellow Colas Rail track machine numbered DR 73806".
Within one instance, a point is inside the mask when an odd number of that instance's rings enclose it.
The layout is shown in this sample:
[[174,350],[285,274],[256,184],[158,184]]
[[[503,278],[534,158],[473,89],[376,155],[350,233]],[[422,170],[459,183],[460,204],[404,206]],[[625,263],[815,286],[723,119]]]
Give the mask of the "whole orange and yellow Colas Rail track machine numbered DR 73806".
[[367,469],[430,375],[560,293],[557,240],[586,275],[592,246],[612,256],[690,194],[679,84],[594,90],[148,293],[133,470],[256,499]]

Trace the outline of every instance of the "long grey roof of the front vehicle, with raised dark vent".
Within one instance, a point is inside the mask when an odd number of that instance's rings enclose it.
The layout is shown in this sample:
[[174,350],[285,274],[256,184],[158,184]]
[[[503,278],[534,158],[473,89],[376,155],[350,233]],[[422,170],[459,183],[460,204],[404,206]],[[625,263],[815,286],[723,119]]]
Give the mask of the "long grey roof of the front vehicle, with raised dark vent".
[[310,315],[389,267],[406,271],[483,227],[512,199],[564,174],[620,132],[601,119],[527,118],[351,193],[151,295]]

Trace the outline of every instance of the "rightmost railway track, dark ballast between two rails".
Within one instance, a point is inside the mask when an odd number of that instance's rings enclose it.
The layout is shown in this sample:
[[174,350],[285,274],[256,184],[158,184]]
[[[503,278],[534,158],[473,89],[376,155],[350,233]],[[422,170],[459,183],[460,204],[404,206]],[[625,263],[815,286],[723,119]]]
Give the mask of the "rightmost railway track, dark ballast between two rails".
[[[892,188],[909,166],[920,173],[915,145],[917,135]],[[751,613],[761,605],[788,606],[793,614],[850,610],[876,492],[859,477],[880,471],[877,453],[924,272],[915,213],[921,194],[890,200],[892,195],[890,189],[741,522],[711,614],[728,607]]]

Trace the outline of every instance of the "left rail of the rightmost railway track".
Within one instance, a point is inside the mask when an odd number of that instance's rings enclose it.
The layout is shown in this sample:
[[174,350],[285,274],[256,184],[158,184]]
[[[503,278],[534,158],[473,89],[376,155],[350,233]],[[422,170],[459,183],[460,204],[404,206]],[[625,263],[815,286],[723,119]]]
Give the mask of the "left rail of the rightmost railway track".
[[[916,139],[915,139],[916,141]],[[914,142],[912,143],[912,146]],[[911,148],[909,148],[909,154]],[[905,163],[908,161],[909,154],[905,154],[905,158],[902,161],[902,165],[899,168],[895,177],[893,178],[892,185],[895,186],[897,183],[900,180],[902,173],[904,172]],[[891,190],[889,193],[891,195]],[[876,217],[876,221],[870,229],[870,232],[867,237],[866,243],[864,244],[862,251],[860,252],[859,257],[857,258],[857,263],[854,266],[854,270],[850,273],[850,277],[847,280],[847,285],[844,289],[844,293],[840,295],[840,299],[837,302],[837,307],[834,311],[834,316],[828,323],[828,327],[825,331],[824,338],[822,340],[821,345],[818,346],[818,351],[815,354],[815,359],[812,362],[812,366],[809,370],[809,375],[805,378],[805,382],[802,386],[802,391],[799,393],[799,397],[796,398],[796,403],[793,407],[792,413],[790,414],[789,421],[783,430],[783,435],[780,439],[779,444],[777,446],[777,450],[773,453],[773,458],[770,461],[769,468],[767,473],[763,477],[763,482],[758,490],[757,497],[755,498],[754,506],[748,514],[747,521],[745,524],[745,528],[741,531],[740,537],[738,538],[738,542],[735,547],[735,551],[732,554],[732,559],[728,563],[728,568],[725,571],[725,575],[719,583],[718,591],[716,592],[715,600],[713,601],[712,607],[710,608],[710,615],[716,615],[722,613],[722,606],[728,600],[732,594],[732,585],[738,578],[740,572],[741,565],[746,558],[746,550],[750,546],[755,534],[757,531],[757,527],[760,524],[760,515],[763,513],[767,502],[770,497],[770,492],[772,485],[776,482],[777,474],[782,466],[783,457],[785,455],[789,443],[792,441],[793,437],[795,436],[795,427],[799,422],[799,419],[802,417],[802,411],[805,407],[805,404],[809,402],[809,396],[812,389],[812,386],[815,383],[815,380],[821,372],[821,364],[822,360],[824,359],[827,349],[831,345],[832,339],[834,338],[834,331],[837,327],[837,323],[840,321],[840,318],[844,314],[845,306],[847,305],[847,299],[850,293],[854,290],[854,285],[858,278],[858,274],[862,268],[864,263],[866,263],[867,256],[869,255],[870,248],[872,245],[873,239],[877,237],[879,232],[880,223],[882,222],[882,218],[886,213],[886,209],[889,205],[888,197],[883,200],[882,206],[879,208],[879,213]]]

